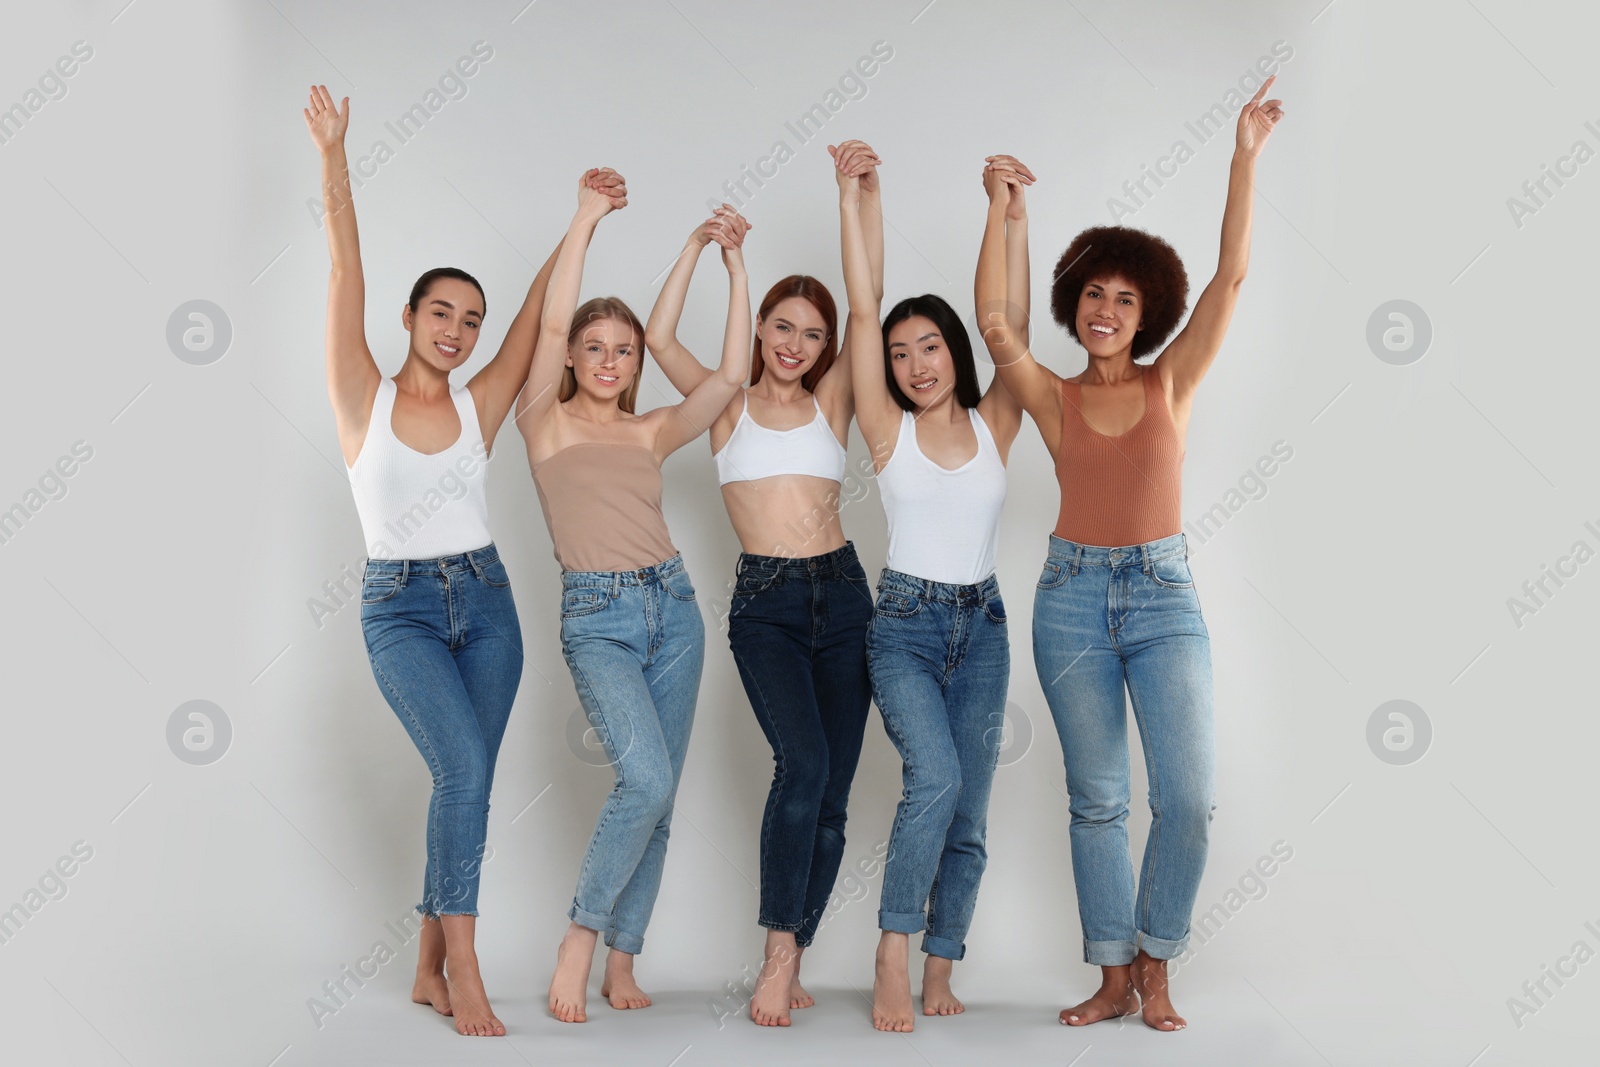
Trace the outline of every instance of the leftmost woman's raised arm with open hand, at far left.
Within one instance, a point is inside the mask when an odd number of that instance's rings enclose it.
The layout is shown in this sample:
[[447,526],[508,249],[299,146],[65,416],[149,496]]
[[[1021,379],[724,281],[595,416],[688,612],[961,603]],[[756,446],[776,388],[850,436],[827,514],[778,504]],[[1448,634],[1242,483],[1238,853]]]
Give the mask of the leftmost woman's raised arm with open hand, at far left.
[[354,462],[366,438],[366,422],[378,394],[378,363],[366,347],[366,282],[362,277],[362,242],[355,232],[355,200],[350,197],[350,165],[344,157],[344,131],[350,125],[350,98],[344,110],[333,104],[326,85],[310,88],[310,104],[301,110],[312,144],[322,154],[323,227],[328,230],[328,400],[339,429],[344,462]]

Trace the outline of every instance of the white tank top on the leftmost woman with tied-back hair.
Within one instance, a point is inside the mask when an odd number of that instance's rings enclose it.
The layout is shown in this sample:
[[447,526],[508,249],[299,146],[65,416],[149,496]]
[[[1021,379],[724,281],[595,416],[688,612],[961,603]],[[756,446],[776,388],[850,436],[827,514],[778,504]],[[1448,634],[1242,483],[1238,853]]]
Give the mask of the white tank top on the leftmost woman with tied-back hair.
[[373,560],[435,560],[490,544],[488,448],[467,389],[451,389],[461,437],[426,456],[395,437],[395,384],[384,378],[373,397],[366,440],[350,475],[355,512]]

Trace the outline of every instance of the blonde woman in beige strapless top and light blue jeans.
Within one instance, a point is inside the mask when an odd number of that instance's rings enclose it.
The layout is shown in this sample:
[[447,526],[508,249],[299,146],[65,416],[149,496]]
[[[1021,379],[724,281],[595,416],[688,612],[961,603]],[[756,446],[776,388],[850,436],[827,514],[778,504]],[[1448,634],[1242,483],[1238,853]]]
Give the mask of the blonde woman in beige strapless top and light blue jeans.
[[646,1008],[634,957],[661,888],[672,803],[699,694],[706,625],[661,512],[661,462],[706,432],[749,373],[744,219],[718,218],[728,323],[717,373],[683,403],[637,414],[643,330],[616,298],[574,309],[595,226],[626,205],[589,182],[550,274],[539,349],[517,429],[562,565],[562,654],[616,774],[578,872],[571,923],[555,957],[550,1011],[584,1022],[598,936],[600,995]]

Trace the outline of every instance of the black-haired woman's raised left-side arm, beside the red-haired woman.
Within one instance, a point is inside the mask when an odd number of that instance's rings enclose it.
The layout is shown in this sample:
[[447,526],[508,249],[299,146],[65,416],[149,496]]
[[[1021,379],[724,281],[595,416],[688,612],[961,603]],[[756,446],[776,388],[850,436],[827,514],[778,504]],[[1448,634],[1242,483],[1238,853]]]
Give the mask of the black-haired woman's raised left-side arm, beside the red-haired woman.
[[901,408],[890,395],[883,374],[883,326],[880,312],[883,296],[872,282],[872,259],[867,254],[867,235],[862,216],[869,211],[861,203],[861,179],[851,178],[843,168],[838,178],[838,248],[845,264],[845,296],[850,301],[845,339],[850,344],[850,379],[854,389],[856,426],[872,451],[878,470],[894,453],[899,437]]

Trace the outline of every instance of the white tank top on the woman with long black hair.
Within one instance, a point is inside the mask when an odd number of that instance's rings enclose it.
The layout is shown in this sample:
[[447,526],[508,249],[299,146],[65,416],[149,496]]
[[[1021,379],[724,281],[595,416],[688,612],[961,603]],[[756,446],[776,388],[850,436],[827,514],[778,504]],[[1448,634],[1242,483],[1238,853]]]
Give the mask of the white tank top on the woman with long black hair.
[[894,454],[878,472],[893,571],[947,585],[976,585],[995,573],[1005,464],[978,408],[966,414],[978,454],[946,470],[917,448],[915,416],[901,413]]

